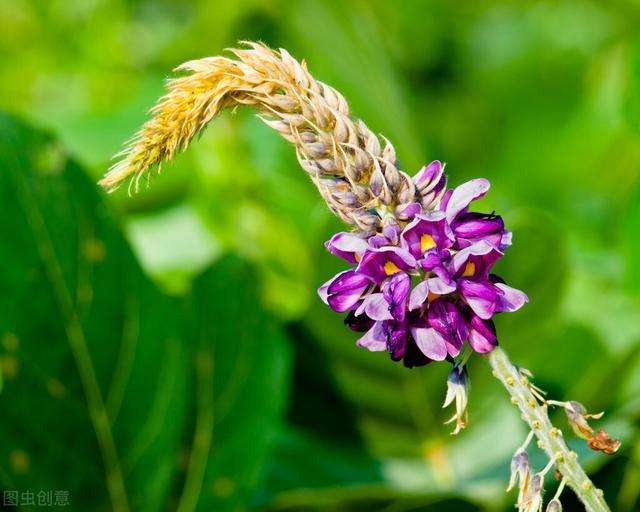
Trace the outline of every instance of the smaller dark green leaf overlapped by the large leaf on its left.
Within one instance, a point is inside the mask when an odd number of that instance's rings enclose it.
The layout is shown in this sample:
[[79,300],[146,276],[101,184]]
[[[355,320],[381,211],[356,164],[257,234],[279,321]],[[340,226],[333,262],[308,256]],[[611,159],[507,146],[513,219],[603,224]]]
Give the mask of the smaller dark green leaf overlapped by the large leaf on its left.
[[[237,510],[263,477],[287,403],[289,350],[259,306],[255,271],[225,258],[194,283],[187,333],[196,353],[194,448],[179,510]],[[194,483],[195,482],[195,483]]]

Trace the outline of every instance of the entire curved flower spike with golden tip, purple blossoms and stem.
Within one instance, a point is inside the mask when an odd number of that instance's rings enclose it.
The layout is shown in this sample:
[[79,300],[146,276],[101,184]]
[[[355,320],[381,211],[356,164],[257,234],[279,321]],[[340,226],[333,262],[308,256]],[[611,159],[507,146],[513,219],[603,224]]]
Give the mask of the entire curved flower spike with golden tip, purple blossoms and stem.
[[[184,150],[223,110],[251,106],[295,146],[300,166],[329,209],[354,230],[327,242],[327,249],[351,268],[319,293],[332,309],[346,313],[351,329],[364,333],[358,345],[387,351],[408,367],[453,361],[465,343],[476,352],[492,351],[497,345],[493,315],[519,309],[527,296],[491,272],[511,244],[502,218],[468,210],[487,192],[489,182],[476,179],[447,189],[438,161],[411,178],[400,168],[391,142],[354,119],[340,92],[316,80],[304,62],[260,43],[245,42],[231,52],[235,58],[207,57],[177,68],[183,75],[168,81],[153,116],[100,184],[113,191],[129,181],[129,190],[137,191],[143,177],[159,172],[163,162]],[[464,364],[471,349],[455,363],[448,382],[446,403],[456,401],[457,430],[466,423]],[[489,362],[524,419],[539,423],[531,418],[532,411],[546,417],[530,400],[525,404],[520,399],[531,393],[534,402],[552,404],[528,382],[530,373],[514,368],[501,350],[493,351]],[[619,442],[604,431],[585,428],[593,415],[573,406],[566,410],[590,446],[606,453],[617,450]],[[538,427],[539,437],[552,435],[546,425]],[[529,512],[541,508],[542,477],[553,465],[532,475],[524,450],[533,436],[532,430],[516,452],[510,484],[519,482],[518,508]],[[561,439],[556,443],[568,455],[566,444]],[[555,498],[566,481],[585,504],[595,503],[594,511],[608,510],[601,495],[587,494],[588,479],[578,482],[562,466],[559,471],[564,479]]]

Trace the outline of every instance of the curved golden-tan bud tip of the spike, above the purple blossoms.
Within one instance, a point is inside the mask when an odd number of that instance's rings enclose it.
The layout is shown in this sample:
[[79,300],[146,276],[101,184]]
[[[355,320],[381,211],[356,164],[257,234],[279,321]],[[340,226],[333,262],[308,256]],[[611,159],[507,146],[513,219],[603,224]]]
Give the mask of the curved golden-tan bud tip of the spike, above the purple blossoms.
[[244,46],[231,50],[235,59],[207,57],[178,66],[186,74],[169,80],[152,118],[117,155],[100,185],[112,191],[130,180],[130,189],[137,190],[142,176],[184,150],[222,110],[249,105],[295,146],[301,167],[348,224],[373,231],[380,217],[371,208],[393,211],[414,200],[413,181],[397,168],[391,143],[351,118],[338,91],[316,80],[306,63],[286,50]]

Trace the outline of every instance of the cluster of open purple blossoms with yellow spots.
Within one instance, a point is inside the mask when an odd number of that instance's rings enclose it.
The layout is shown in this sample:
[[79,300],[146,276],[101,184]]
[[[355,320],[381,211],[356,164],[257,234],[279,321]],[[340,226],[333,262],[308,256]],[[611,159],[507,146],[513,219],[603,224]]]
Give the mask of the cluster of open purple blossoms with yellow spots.
[[456,357],[465,341],[489,352],[497,345],[495,313],[528,301],[490,273],[511,245],[501,217],[469,212],[489,189],[485,179],[446,189],[438,161],[413,178],[420,203],[383,217],[380,233],[337,233],[327,249],[353,268],[320,287],[322,300],[346,312],[345,323],[365,334],[358,345],[388,351],[405,366]]

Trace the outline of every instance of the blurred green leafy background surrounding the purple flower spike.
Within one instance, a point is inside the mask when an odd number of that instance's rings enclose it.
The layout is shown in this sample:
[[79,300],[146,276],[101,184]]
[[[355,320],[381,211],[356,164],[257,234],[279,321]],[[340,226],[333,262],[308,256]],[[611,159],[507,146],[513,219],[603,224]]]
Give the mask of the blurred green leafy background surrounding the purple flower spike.
[[446,365],[355,348],[315,294],[341,227],[251,112],[136,197],[97,189],[173,67],[259,39],[410,174],[491,180],[481,206],[515,234],[499,273],[531,298],[501,343],[553,398],[606,410],[616,456],[571,443],[639,510],[638,27],[636,1],[1,0],[1,489],[82,511],[513,507],[526,431],[486,361],[451,437]]

